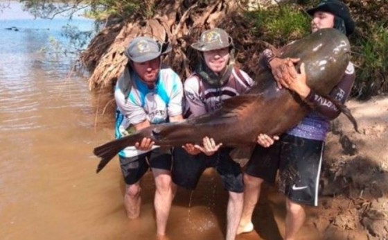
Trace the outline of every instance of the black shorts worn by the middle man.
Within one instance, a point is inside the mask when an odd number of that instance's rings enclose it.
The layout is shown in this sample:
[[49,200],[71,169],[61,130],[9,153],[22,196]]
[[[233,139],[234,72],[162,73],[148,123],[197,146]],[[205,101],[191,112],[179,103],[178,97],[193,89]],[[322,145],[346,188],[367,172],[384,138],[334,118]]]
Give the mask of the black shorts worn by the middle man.
[[222,148],[212,156],[203,153],[191,155],[184,148],[177,147],[173,151],[173,182],[186,189],[195,189],[202,173],[213,167],[220,174],[222,185],[227,191],[242,193],[244,191],[243,173],[240,164],[229,156],[230,148]]

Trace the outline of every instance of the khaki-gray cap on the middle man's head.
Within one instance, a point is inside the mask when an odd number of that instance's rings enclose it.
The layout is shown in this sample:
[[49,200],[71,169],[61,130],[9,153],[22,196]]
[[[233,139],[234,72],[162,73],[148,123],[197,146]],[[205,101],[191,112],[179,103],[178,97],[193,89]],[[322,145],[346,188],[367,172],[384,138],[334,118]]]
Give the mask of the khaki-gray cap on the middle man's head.
[[191,44],[197,51],[224,49],[233,44],[232,38],[221,28],[213,28],[201,34],[200,41]]

